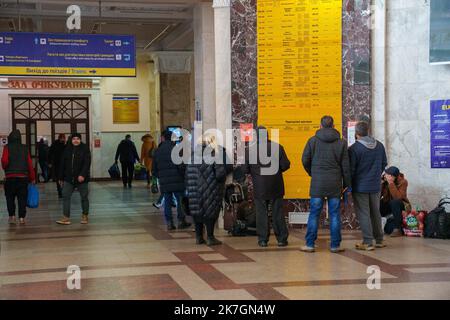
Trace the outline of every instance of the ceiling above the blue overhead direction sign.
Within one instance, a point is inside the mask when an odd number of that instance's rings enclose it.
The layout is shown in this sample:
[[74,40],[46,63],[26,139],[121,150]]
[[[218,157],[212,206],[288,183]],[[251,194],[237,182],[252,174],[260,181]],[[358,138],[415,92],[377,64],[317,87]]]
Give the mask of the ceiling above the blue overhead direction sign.
[[0,32],[68,32],[66,10],[76,4],[80,33],[132,34],[138,50],[192,50],[193,6],[199,2],[212,0],[0,0]]

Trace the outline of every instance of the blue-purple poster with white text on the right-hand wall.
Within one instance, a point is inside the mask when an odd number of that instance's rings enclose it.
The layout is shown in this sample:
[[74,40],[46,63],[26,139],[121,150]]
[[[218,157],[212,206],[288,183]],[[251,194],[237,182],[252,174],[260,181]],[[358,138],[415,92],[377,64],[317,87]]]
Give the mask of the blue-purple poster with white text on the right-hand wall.
[[431,168],[450,168],[450,100],[431,101]]

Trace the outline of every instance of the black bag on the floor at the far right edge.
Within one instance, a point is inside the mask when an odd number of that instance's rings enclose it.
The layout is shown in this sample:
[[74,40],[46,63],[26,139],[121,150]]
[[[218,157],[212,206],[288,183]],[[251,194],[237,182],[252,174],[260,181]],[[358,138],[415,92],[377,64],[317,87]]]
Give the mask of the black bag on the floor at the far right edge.
[[446,211],[446,204],[450,204],[450,199],[441,199],[438,206],[426,216],[425,238],[450,239],[450,212]]

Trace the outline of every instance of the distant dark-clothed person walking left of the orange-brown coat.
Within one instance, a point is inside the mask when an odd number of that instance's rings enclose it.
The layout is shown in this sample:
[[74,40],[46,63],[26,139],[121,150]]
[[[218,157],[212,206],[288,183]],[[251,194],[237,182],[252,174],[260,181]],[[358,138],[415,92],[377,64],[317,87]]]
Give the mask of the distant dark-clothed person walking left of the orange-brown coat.
[[120,164],[122,165],[122,182],[123,187],[131,188],[131,182],[133,181],[134,164],[139,162],[139,156],[136,150],[134,142],[131,141],[131,136],[127,134],[125,139],[122,140],[117,146],[115,161],[120,158]]

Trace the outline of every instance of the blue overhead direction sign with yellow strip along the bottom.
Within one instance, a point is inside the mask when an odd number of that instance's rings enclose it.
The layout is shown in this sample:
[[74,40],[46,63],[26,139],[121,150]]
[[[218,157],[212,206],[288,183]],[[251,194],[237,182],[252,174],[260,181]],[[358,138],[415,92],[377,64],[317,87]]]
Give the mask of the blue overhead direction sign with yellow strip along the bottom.
[[0,75],[136,76],[134,36],[0,32]]

